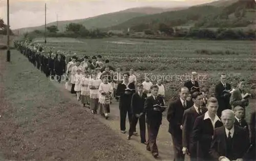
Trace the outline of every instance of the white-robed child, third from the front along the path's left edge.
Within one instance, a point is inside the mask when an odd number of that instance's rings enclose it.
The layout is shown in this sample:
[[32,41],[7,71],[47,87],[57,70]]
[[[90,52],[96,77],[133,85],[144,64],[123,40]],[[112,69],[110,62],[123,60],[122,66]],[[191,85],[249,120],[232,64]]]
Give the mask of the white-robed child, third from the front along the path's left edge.
[[81,102],[83,104],[83,107],[89,107],[90,108],[90,88],[89,88],[89,81],[91,79],[91,76],[89,72],[85,72],[84,76],[82,77],[81,81]]

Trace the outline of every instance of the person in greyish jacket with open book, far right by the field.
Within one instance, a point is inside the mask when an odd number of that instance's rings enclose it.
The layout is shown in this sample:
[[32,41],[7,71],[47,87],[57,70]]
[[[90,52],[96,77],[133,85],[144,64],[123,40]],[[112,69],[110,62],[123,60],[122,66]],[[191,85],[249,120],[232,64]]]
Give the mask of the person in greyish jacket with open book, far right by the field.
[[238,83],[238,88],[232,92],[230,96],[230,105],[232,106],[232,108],[236,106],[241,106],[245,109],[245,107],[249,105],[249,100],[243,99],[242,97],[242,95],[245,95],[244,84],[245,84],[245,80],[242,79]]

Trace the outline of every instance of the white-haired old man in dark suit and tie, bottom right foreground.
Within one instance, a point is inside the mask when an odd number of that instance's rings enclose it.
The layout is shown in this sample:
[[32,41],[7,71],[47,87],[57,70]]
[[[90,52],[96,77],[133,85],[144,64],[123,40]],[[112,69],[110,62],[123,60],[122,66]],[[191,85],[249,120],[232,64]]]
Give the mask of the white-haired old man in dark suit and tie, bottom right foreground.
[[216,128],[209,150],[216,160],[243,160],[246,159],[249,148],[249,137],[241,127],[234,125],[234,112],[225,109],[221,114],[222,127]]

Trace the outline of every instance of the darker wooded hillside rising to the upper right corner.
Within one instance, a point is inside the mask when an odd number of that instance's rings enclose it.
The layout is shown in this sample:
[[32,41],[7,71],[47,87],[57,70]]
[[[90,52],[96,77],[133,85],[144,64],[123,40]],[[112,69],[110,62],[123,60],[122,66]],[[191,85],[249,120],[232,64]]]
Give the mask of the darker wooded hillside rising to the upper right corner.
[[254,0],[220,0],[179,11],[134,17],[105,30],[126,31],[130,28],[130,31],[141,32],[157,30],[160,24],[171,27],[188,25],[202,28],[247,27],[255,23],[255,6]]

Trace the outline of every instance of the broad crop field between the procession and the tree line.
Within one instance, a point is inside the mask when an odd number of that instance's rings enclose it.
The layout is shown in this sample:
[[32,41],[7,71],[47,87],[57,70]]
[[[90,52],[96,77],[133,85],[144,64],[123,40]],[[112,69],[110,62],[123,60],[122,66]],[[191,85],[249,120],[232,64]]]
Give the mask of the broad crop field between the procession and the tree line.
[[[42,43],[44,39],[34,41]],[[210,91],[221,73],[230,76],[233,88],[238,79],[244,78],[247,80],[246,90],[254,97],[256,60],[253,41],[49,38],[47,46],[77,55],[100,54],[123,71],[134,68],[140,81],[150,73],[152,81],[163,76],[168,98],[177,96],[178,88],[191,71],[199,73],[200,86],[206,86]]]

